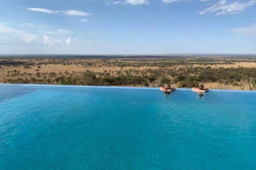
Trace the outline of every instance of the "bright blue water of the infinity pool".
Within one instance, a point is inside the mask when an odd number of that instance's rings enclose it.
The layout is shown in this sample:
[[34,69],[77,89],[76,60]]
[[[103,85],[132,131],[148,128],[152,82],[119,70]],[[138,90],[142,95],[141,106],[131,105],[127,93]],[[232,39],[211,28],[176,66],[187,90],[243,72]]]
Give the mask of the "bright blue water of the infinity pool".
[[255,170],[256,93],[0,84],[0,170]]

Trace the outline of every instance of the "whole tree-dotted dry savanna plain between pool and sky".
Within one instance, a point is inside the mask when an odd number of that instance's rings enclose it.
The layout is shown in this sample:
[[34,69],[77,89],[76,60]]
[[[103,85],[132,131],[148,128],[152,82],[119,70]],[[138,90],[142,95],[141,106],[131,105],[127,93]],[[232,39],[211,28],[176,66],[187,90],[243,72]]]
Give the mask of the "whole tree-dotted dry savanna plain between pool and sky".
[[0,83],[256,90],[256,57],[0,57]]

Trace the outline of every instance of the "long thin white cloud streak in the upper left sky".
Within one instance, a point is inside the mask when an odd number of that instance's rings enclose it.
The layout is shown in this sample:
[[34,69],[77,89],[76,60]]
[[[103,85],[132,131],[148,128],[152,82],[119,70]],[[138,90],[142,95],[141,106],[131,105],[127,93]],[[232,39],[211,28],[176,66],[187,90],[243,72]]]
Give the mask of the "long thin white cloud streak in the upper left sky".
[[43,12],[47,14],[64,14],[69,16],[89,16],[90,13],[78,10],[68,10],[68,11],[52,11],[46,8],[26,8],[30,11]]

